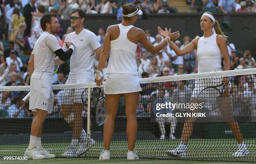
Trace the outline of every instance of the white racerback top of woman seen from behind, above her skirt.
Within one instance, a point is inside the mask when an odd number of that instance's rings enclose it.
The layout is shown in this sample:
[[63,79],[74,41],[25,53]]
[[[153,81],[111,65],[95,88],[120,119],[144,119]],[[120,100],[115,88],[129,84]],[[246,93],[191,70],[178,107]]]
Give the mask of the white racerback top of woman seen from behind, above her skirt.
[[127,32],[134,27],[118,24],[120,35],[110,42],[108,73],[125,73],[138,75],[136,65],[137,45],[127,38]]

